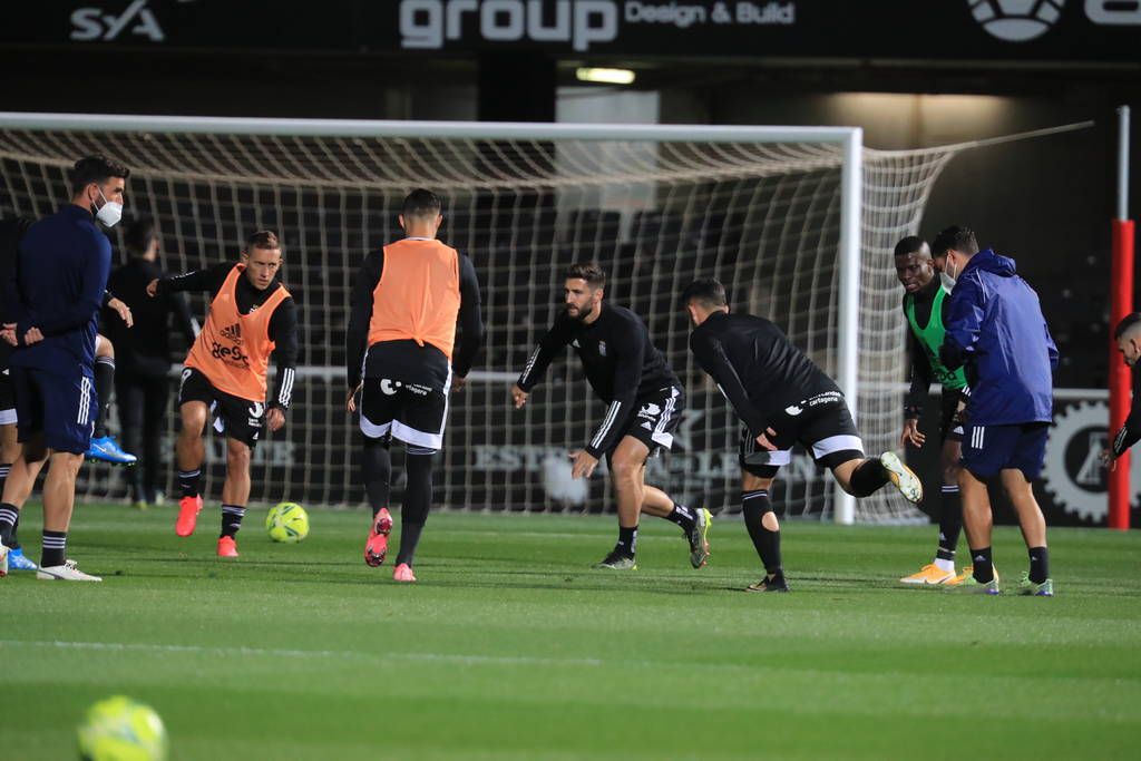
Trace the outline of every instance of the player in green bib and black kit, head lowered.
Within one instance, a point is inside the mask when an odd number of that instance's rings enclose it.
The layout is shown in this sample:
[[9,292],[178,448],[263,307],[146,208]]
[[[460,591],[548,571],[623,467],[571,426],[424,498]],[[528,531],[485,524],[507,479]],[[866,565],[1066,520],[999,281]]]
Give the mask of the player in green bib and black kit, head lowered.
[[962,450],[963,423],[960,410],[965,406],[968,392],[963,369],[948,370],[939,358],[946,335],[947,297],[939,270],[931,258],[926,241],[909,235],[896,244],[896,275],[904,286],[904,317],[911,327],[908,353],[912,365],[912,388],[904,403],[904,432],[900,445],[919,448],[926,442],[920,431],[920,416],[926,402],[931,381],[942,387],[942,413],[939,438],[942,448],[939,465],[942,472],[942,494],[939,504],[939,544],[934,559],[919,572],[904,576],[905,584],[957,585],[971,573],[966,566],[962,575],[955,574],[955,549],[963,528],[963,507],[958,500],[958,458]]

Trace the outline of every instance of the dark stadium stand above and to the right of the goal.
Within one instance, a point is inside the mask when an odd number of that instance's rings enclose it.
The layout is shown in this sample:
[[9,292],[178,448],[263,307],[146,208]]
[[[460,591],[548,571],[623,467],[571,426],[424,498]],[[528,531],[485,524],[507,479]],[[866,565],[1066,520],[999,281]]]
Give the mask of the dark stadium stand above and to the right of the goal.
[[[656,94],[663,123],[858,124],[874,148],[1094,120],[1078,132],[957,156],[934,185],[922,233],[966,222],[981,244],[1015,257],[1061,351],[1057,384],[1104,388],[1114,111],[1141,105],[1141,11],[1131,3],[1071,0],[1051,29],[1014,42],[977,23],[966,0],[686,2],[710,14],[718,5],[738,13],[743,5],[791,7],[794,23],[683,29],[630,21],[669,3],[633,3],[634,13],[616,0],[601,3],[614,6],[618,19],[605,42],[489,40],[477,17],[464,14],[458,39],[427,48],[407,47],[402,35],[402,7],[410,3],[421,8],[423,24],[430,21],[423,9],[447,7],[443,0],[6,3],[0,108],[552,121],[560,105],[582,97],[566,89],[584,87],[576,67],[608,65],[637,72],[630,89]],[[555,5],[544,3],[544,13]],[[126,24],[108,18],[128,7],[133,17]],[[1117,23],[1106,23],[1109,18]],[[1141,114],[1134,155],[1139,121]],[[1136,209],[1136,172],[1132,186]],[[1077,520],[1052,507],[1051,521]]]

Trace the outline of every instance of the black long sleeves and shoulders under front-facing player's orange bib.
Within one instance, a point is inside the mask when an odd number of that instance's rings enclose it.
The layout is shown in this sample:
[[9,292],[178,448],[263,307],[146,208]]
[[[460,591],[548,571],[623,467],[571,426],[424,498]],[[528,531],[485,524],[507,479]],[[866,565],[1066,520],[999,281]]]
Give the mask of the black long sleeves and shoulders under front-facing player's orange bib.
[[[162,278],[159,281],[155,298],[183,291],[209,291],[210,299],[213,300],[233,268],[234,264],[226,261],[215,265],[209,269],[199,269],[184,275]],[[266,299],[280,288],[282,288],[281,281],[275,280],[269,284],[269,288],[259,291],[246,277],[238,277],[237,286],[234,289],[238,313],[243,315],[250,314],[265,303]],[[284,371],[297,367],[297,358],[300,354],[297,334],[297,305],[293,302],[292,297],[283,299],[277,305],[277,308],[274,309],[274,314],[269,317],[268,333],[269,340],[275,345],[273,356],[274,363],[277,365],[276,388],[274,389],[269,407],[288,410],[293,396],[294,373]]]

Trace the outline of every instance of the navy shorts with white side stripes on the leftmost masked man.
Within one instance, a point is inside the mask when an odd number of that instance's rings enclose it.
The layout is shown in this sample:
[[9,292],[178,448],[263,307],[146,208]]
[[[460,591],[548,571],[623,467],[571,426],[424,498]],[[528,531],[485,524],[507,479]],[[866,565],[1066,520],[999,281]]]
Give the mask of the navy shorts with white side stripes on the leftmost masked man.
[[76,365],[71,372],[58,373],[11,367],[9,373],[21,443],[42,434],[49,450],[87,452],[99,408],[91,370]]

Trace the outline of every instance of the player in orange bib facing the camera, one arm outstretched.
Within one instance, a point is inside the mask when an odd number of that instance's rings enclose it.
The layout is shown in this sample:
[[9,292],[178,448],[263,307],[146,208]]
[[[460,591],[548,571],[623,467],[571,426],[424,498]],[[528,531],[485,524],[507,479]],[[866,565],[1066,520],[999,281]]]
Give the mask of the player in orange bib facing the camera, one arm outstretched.
[[[250,236],[237,264],[152,280],[147,296],[209,291],[205,325],[183,363],[178,405],[178,503],[175,533],[189,536],[202,511],[200,481],[205,461],[203,435],[210,413],[226,435],[226,481],[221,488],[218,557],[237,557],[237,532],[250,499],[250,454],[264,427],[285,424],[297,364],[297,306],[280,280],[282,245],[277,235]],[[276,391],[266,406],[269,356],[277,366]]]

